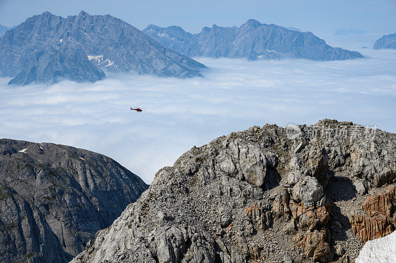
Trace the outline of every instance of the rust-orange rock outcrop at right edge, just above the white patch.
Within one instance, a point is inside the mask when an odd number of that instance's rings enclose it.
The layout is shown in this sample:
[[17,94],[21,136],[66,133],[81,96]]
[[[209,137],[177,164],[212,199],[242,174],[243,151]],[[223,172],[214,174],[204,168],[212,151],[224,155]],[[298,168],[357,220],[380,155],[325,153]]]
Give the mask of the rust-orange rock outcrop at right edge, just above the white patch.
[[349,218],[353,233],[366,243],[368,240],[384,237],[395,230],[396,187],[392,186],[385,195],[367,197],[361,208],[367,216],[356,215]]

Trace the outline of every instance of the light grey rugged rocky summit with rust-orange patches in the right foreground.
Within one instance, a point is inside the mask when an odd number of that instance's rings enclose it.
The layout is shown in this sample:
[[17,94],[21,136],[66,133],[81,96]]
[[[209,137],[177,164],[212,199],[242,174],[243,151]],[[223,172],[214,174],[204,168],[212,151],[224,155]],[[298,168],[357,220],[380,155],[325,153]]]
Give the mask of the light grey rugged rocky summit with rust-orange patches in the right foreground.
[[395,230],[395,147],[334,120],[232,132],[161,169],[72,262],[353,262]]

